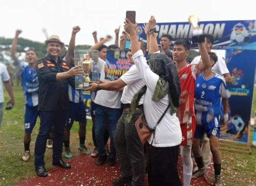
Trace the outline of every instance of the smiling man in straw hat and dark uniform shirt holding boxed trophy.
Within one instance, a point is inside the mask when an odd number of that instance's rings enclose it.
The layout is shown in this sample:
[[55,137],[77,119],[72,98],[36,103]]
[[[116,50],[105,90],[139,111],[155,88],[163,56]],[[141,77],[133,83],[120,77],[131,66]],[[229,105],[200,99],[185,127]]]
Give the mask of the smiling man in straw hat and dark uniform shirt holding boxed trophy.
[[[75,75],[81,75],[81,66],[71,68],[61,60],[59,53],[64,46],[57,35],[52,35],[45,42],[47,56],[37,62],[36,71],[39,81],[38,110],[40,128],[34,149],[35,169],[38,176],[46,177],[44,153],[48,134],[54,126],[53,165],[71,168],[62,160],[64,126],[68,115],[68,84],[75,88]],[[80,69],[79,69],[80,68]]]

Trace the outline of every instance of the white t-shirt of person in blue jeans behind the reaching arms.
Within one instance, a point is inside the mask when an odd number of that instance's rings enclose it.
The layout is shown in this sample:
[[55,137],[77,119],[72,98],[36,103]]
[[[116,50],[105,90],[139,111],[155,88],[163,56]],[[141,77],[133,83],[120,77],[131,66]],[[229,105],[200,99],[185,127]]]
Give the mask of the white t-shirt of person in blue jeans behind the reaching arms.
[[[99,61],[101,60],[102,59],[99,58]],[[104,71],[105,61],[103,62],[104,62],[104,67],[102,69]],[[105,79],[105,72],[103,74],[104,74],[103,78]],[[109,79],[105,79],[105,80],[110,81]],[[122,92],[118,92],[116,90],[113,90],[113,91],[99,90],[97,91],[94,102],[104,107],[121,108],[121,96],[122,96]]]

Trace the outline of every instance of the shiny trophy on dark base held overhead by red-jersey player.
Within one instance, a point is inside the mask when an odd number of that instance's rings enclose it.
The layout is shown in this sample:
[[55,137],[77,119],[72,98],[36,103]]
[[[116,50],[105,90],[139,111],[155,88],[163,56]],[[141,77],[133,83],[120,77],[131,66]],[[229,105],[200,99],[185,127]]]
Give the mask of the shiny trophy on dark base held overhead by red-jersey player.
[[197,15],[188,16],[188,22],[192,25],[192,43],[204,42],[205,36],[203,35],[203,29],[198,26],[199,18]]

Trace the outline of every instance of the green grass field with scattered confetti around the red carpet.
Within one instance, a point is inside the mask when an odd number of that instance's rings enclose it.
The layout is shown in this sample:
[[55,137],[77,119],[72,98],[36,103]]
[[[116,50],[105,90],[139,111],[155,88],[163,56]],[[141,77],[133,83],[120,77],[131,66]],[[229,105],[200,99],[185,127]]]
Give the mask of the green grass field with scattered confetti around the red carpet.
[[[15,185],[15,183],[28,177],[36,176],[34,172],[33,151],[34,142],[38,134],[39,119],[31,136],[31,159],[28,162],[23,162],[21,157],[24,151],[24,101],[21,87],[14,87],[14,94],[16,104],[12,110],[4,110],[2,121],[3,133],[0,135],[0,186]],[[5,101],[8,100],[9,96],[5,92]],[[255,109],[256,100],[254,100],[252,113],[254,113]],[[91,127],[91,120],[87,120],[86,146],[92,150]],[[250,139],[251,141],[252,139]],[[70,143],[73,156],[78,156],[78,123],[75,123],[71,129]],[[53,167],[51,153],[51,149],[46,150],[45,161],[47,170]],[[256,185],[256,148],[252,148],[252,154],[222,151],[222,177],[226,186]]]

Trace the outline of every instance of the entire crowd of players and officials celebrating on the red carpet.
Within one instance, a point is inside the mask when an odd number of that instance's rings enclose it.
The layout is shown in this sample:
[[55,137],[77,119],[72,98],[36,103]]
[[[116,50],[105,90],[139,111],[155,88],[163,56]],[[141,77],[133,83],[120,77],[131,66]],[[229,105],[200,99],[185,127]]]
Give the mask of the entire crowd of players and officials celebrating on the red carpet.
[[[128,19],[120,44],[120,27],[115,30],[115,45],[104,45],[111,36],[98,41],[97,32],[93,33],[95,45],[91,49],[98,50],[97,67],[100,75],[99,81],[90,84],[87,89],[91,90],[92,154],[85,146],[86,112],[82,91],[75,90],[74,76],[83,74],[81,66],[74,64],[75,37],[80,31],[79,26],[73,27],[68,51],[64,56],[59,56],[64,43],[57,35],[52,35],[45,42],[45,58],[38,60],[36,51],[26,51],[26,67],[16,57],[18,36],[21,33],[20,30],[16,31],[10,51],[16,68],[21,72],[25,96],[25,152],[22,159],[30,159],[31,133],[40,115],[40,128],[34,150],[38,176],[47,176],[44,153],[47,141],[50,142],[51,138],[53,164],[71,168],[62,159],[62,149],[64,143],[65,157],[72,157],[69,148],[70,129],[74,121],[78,121],[78,149],[81,152],[98,157],[97,165],[107,161],[107,165],[112,166],[116,162],[116,155],[118,156],[121,177],[114,180],[113,185],[144,185],[145,166],[150,185],[182,185],[177,173],[179,150],[183,162],[184,186],[190,185],[191,177],[206,174],[211,159],[210,152],[213,155],[215,185],[222,185],[218,139],[220,123],[228,121],[230,95],[226,83],[231,82],[225,61],[210,52],[213,36],[206,34],[205,40],[198,44],[201,56],[188,64],[186,58],[190,42],[178,39],[171,51],[172,38],[164,34],[161,36],[159,49],[155,25],[154,16],[144,24],[147,43],[137,39],[137,24]],[[128,33],[131,41],[128,57],[129,62],[134,65],[118,80],[107,82],[107,50],[124,50]],[[144,57],[147,52],[148,59]],[[179,98],[175,99],[173,89],[177,89]],[[165,109],[168,109],[166,114]],[[134,125],[142,112],[151,128],[154,128],[164,114],[156,127],[154,139],[152,135],[145,147],[140,142]],[[109,137],[110,150],[106,145]],[[204,140],[201,148],[202,138]],[[151,142],[152,147],[149,147]],[[197,163],[194,171],[191,150]]]

